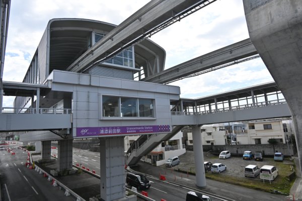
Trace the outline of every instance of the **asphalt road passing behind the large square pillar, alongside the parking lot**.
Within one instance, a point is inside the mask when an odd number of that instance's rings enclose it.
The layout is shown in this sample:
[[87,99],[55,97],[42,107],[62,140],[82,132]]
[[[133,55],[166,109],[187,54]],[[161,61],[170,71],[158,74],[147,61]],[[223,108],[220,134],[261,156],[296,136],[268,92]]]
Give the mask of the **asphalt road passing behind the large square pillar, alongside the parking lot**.
[[[56,152],[55,149],[52,150],[53,153]],[[100,158],[99,153],[90,152],[87,150],[73,149],[73,164],[81,164],[89,167],[90,170],[95,169],[96,173],[99,174],[100,169]],[[224,160],[223,160],[224,161]],[[144,162],[139,162],[138,166],[133,168],[137,171],[150,175],[149,180],[151,182],[151,187],[145,191],[148,196],[155,200],[185,200],[186,193],[190,190],[195,191],[205,191],[205,194],[214,194],[213,200],[223,200],[215,198],[215,194],[222,196],[225,200],[288,200],[289,197],[284,195],[271,194],[267,192],[262,192],[254,189],[249,189],[241,186],[231,185],[228,183],[222,183],[210,179],[206,179],[206,187],[200,188],[195,185],[195,176],[181,174],[170,169],[163,167],[156,167]],[[169,171],[170,170],[170,171]],[[167,181],[175,183],[172,185],[168,182],[159,181],[159,173],[165,174]],[[185,186],[178,186],[185,185]],[[130,188],[130,186],[127,186]]]

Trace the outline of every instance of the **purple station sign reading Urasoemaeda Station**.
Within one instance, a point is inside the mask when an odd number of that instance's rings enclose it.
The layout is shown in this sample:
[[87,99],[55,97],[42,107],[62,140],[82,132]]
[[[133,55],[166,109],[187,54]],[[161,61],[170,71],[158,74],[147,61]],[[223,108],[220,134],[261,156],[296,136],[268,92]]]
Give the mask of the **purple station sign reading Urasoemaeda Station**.
[[167,133],[167,132],[171,132],[169,125],[82,127],[82,128],[77,128],[77,137],[129,135],[129,134],[143,134],[143,133]]

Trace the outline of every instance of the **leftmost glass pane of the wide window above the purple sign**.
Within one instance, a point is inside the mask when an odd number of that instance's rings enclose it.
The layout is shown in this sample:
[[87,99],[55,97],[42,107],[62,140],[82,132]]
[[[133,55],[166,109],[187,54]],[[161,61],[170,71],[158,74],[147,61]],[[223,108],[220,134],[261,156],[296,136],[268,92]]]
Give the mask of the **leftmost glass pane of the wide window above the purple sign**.
[[103,117],[120,117],[119,97],[103,96]]

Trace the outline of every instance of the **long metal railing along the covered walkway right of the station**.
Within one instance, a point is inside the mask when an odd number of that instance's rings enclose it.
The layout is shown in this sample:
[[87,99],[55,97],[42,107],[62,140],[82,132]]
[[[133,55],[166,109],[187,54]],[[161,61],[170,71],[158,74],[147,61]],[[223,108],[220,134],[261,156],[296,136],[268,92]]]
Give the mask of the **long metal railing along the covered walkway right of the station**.
[[172,115],[182,115],[182,116],[194,116],[194,115],[207,115],[207,114],[213,114],[213,113],[222,113],[222,112],[230,112],[234,110],[244,110],[248,108],[259,108],[259,107],[265,107],[265,106],[272,106],[272,105],[279,105],[279,104],[285,104],[285,99],[277,99],[277,100],[270,100],[267,102],[260,102],[255,103],[255,106],[253,104],[247,104],[242,106],[233,106],[229,108],[221,108],[217,110],[208,110],[208,111],[202,111],[202,112],[171,112]]

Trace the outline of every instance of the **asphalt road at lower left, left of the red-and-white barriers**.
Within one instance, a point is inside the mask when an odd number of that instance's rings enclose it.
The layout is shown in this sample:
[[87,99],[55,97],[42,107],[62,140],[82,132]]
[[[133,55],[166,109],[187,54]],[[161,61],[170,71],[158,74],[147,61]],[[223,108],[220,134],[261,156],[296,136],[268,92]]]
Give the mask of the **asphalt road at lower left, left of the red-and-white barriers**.
[[0,150],[2,201],[75,200],[71,196],[65,196],[64,190],[53,187],[51,182],[38,172],[25,167],[27,153],[18,149],[18,145],[7,146],[14,147],[16,154]]

